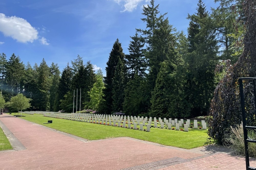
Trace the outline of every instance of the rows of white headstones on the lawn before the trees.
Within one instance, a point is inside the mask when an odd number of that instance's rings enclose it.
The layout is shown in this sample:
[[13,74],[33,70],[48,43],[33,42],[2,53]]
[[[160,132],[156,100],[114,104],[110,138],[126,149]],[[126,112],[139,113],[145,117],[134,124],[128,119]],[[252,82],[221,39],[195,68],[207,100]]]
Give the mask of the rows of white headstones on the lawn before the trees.
[[[123,124],[122,127],[125,127],[126,125],[126,121],[128,124],[127,128],[131,128],[131,125],[133,124],[133,128],[137,129],[137,125],[139,125],[139,129],[143,130],[143,126],[146,126],[147,132],[150,132],[150,127],[151,124],[153,127],[158,127],[158,121],[156,119],[156,117],[154,117],[154,121],[152,122],[152,117],[140,117],[140,116],[123,116],[123,115],[105,115],[105,114],[90,114],[90,113],[59,113],[59,114],[44,114],[44,116],[48,116],[48,117],[55,117],[55,118],[61,118],[61,119],[68,119],[68,120],[75,120],[75,121],[82,121],[82,122],[95,122],[97,124],[109,124],[112,125],[113,122],[113,126],[121,126],[121,123]],[[127,119],[126,119],[127,118]],[[125,120],[125,121],[124,121]],[[160,128],[164,128],[164,124],[167,125],[168,129],[172,129],[172,126],[175,126],[175,130],[179,130],[180,127],[184,126],[184,131],[188,132],[188,128],[190,127],[190,125],[194,125],[193,128],[198,128],[198,122],[197,120],[194,120],[194,123],[190,124],[190,120],[187,119],[187,121],[184,123],[184,119],[180,119],[178,121],[178,119],[174,119],[172,120],[172,118],[166,119],[164,118],[164,120],[161,119],[161,117],[158,118],[159,123],[160,123]],[[97,122],[98,121],[98,122]],[[109,123],[108,123],[109,122]],[[131,123],[132,122],[132,123]],[[146,123],[148,123],[146,125]],[[201,121],[202,124],[202,129],[206,129],[207,125],[206,122],[204,120]],[[149,125],[149,126],[148,126]]]

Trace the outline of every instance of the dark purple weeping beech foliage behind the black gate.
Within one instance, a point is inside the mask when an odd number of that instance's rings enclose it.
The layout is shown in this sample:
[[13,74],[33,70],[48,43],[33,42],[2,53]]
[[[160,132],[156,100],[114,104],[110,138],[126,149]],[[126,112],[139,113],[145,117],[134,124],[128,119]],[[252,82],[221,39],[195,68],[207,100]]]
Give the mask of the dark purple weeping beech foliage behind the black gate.
[[[208,135],[218,143],[222,143],[227,128],[235,127],[242,121],[238,78],[256,77],[256,0],[244,0],[242,7],[241,16],[246,28],[244,50],[233,66],[227,63],[227,74],[217,85],[210,104],[212,117]],[[244,81],[243,84],[247,121],[256,122],[252,84],[249,81]]]

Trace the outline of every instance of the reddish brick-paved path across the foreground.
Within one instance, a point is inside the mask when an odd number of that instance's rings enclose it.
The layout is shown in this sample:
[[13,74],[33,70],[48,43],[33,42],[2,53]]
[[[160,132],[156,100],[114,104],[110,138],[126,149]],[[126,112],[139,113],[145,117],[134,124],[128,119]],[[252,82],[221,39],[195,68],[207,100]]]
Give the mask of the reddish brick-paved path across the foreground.
[[12,144],[21,145],[0,151],[0,169],[245,169],[244,158],[220,152],[223,147],[186,150],[128,137],[88,141],[7,114],[0,121]]

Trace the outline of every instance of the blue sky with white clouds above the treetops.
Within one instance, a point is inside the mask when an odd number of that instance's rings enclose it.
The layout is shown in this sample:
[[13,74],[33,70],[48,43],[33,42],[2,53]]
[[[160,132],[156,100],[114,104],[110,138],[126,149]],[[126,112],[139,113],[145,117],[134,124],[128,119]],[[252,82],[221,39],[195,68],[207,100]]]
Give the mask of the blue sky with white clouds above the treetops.
[[[19,55],[26,64],[58,63],[60,70],[80,55],[105,74],[106,62],[116,38],[128,54],[135,28],[145,29],[140,18],[149,0],[2,0],[0,1],[0,53]],[[187,33],[188,13],[198,0],[155,0],[159,11],[168,12],[170,24]],[[216,8],[214,0],[204,0]]]

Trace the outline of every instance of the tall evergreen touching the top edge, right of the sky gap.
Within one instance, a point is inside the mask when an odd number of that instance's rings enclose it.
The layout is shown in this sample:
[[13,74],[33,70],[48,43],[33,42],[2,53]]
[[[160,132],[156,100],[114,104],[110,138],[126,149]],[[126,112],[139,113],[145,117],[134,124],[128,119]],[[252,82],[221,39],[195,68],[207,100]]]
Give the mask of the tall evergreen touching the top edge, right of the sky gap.
[[216,41],[214,30],[206,29],[203,22],[209,18],[205,5],[198,2],[197,13],[189,15],[189,48],[185,61],[188,64],[187,94],[192,104],[192,115],[209,112],[210,99],[214,87],[214,69],[216,64]]

